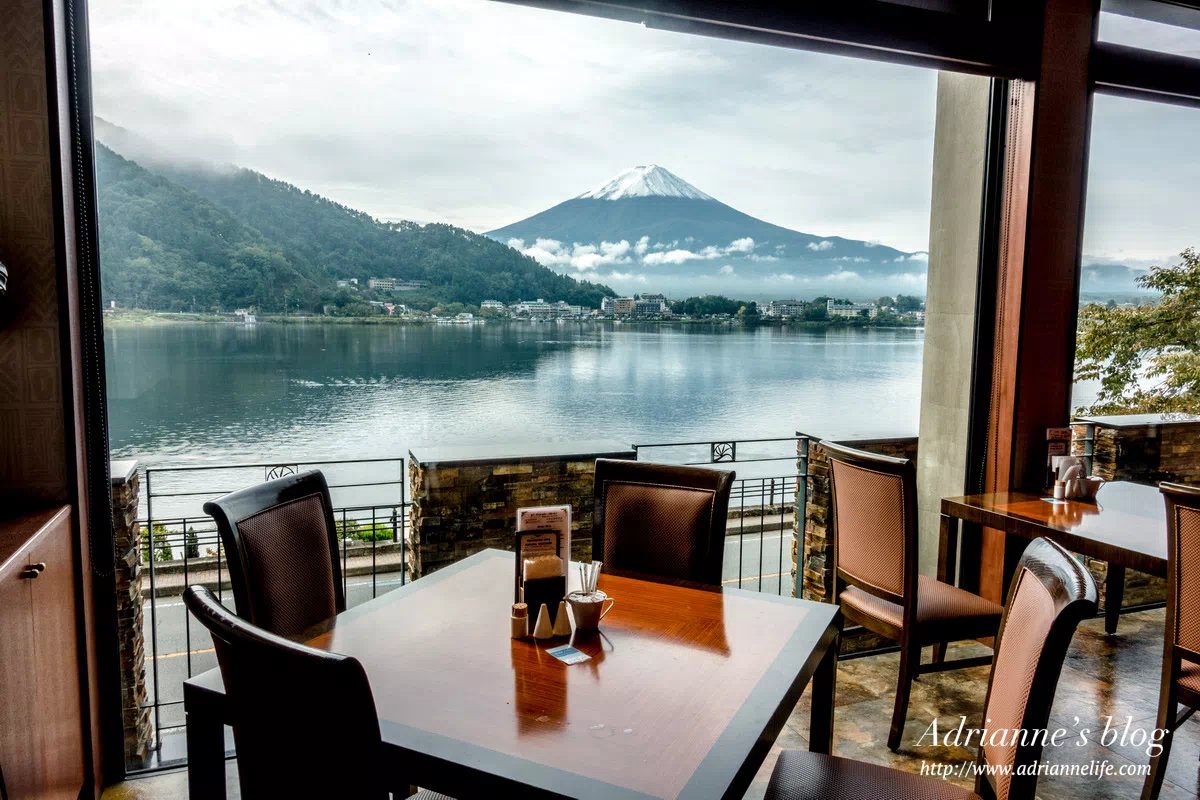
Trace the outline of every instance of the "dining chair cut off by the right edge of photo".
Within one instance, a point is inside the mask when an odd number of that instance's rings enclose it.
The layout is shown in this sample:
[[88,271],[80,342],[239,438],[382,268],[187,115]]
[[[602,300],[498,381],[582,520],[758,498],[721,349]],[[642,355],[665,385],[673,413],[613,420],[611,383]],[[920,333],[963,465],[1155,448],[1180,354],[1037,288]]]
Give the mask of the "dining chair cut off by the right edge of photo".
[[1158,488],[1166,501],[1166,631],[1157,728],[1168,733],[1150,759],[1142,800],[1158,796],[1175,730],[1200,709],[1200,487]]

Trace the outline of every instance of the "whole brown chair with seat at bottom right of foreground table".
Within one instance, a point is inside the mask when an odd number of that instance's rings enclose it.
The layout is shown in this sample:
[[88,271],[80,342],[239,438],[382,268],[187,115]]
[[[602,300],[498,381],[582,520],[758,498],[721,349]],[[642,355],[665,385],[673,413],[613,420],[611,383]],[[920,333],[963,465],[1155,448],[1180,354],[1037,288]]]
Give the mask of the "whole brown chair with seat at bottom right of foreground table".
[[[1094,613],[1092,575],[1058,545],[1031,542],[1013,577],[996,642],[983,715],[990,729],[1045,729],[1067,648],[1079,622]],[[974,792],[848,758],[784,751],[767,800],[1033,800],[1038,770],[1027,765],[1042,758],[1042,736],[1015,746],[1000,744],[1006,742],[979,748]]]

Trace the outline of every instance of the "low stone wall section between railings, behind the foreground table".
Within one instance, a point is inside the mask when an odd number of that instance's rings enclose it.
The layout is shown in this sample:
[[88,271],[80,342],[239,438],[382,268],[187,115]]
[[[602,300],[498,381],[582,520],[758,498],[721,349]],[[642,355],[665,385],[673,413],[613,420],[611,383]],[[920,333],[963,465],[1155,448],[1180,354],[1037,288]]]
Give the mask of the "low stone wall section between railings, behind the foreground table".
[[617,443],[583,443],[545,452],[487,447],[409,452],[413,498],[407,529],[408,575],[419,578],[486,548],[512,549],[518,507],[571,506],[572,558],[592,553],[596,458],[636,453]]

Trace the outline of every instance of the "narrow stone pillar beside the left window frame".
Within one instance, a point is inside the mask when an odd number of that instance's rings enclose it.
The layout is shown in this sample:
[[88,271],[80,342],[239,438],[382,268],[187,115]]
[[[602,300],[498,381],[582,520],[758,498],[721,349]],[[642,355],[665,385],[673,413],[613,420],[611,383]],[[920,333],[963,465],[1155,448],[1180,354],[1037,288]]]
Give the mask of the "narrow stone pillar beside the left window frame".
[[125,763],[149,764],[154,750],[154,717],[146,692],[145,627],[142,614],[143,576],[138,559],[140,479],[137,462],[113,462],[113,539],[116,564],[116,625],[121,652],[121,722]]

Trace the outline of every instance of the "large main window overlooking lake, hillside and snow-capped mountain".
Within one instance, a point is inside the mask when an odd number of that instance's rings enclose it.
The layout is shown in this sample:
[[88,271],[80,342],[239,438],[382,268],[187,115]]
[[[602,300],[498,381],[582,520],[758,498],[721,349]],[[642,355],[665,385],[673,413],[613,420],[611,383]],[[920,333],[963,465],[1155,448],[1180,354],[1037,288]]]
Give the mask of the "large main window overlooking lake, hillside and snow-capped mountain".
[[358,602],[404,579],[410,449],[698,443],[641,452],[736,453],[778,519],[728,579],[790,593],[797,432],[917,433],[935,72],[491,2],[90,5],[150,763],[214,663],[174,596],[221,579],[211,494],[325,469]]

